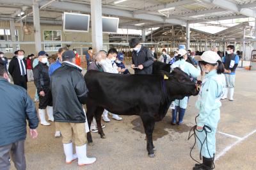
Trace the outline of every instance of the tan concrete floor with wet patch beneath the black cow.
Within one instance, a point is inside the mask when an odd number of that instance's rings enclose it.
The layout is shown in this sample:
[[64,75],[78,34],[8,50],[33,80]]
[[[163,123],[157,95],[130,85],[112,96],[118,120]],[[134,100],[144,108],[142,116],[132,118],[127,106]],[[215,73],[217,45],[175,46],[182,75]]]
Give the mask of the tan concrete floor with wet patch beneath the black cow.
[[[255,71],[238,69],[235,101],[223,101],[218,131],[234,137],[216,134],[216,169],[255,169],[255,77]],[[33,97],[35,86],[31,82],[28,91]],[[188,133],[195,125],[195,114],[198,112],[195,100],[196,97],[189,100],[184,125],[170,125],[170,111],[163,121],[156,123],[155,158],[147,156],[145,134],[138,116],[122,116],[122,121],[105,123],[106,139],[92,134],[94,146],[88,146],[88,155],[97,157],[97,162],[84,167],[78,167],[77,162],[65,164],[61,138],[53,137],[54,125],[39,125],[38,138],[32,140],[28,136],[26,140],[27,169],[192,169],[195,162],[189,157],[189,151],[193,140],[188,141]],[[227,150],[228,147],[230,150]],[[225,149],[226,153],[223,152]],[[193,153],[199,159],[198,151],[194,150]],[[15,169],[13,165],[12,169]]]

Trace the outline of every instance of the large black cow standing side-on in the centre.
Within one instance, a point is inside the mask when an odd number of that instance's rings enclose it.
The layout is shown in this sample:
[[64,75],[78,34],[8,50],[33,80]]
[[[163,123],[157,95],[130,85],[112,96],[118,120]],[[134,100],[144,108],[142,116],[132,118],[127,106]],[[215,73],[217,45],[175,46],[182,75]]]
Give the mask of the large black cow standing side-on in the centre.
[[[104,109],[114,114],[139,115],[147,135],[149,157],[154,157],[152,133],[155,122],[164,118],[173,100],[198,95],[196,84],[180,68],[158,75],[122,75],[90,70],[84,79],[89,89],[88,124],[91,125],[94,116],[100,137],[105,138],[100,122]],[[90,132],[87,138],[92,144]]]

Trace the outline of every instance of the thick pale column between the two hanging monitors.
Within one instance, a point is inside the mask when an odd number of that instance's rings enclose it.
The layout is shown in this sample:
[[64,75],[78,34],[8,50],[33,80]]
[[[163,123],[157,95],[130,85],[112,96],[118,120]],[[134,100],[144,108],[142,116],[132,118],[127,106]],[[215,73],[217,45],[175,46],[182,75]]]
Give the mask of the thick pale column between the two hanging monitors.
[[102,35],[102,3],[101,0],[91,0],[92,48],[94,52],[103,49]]

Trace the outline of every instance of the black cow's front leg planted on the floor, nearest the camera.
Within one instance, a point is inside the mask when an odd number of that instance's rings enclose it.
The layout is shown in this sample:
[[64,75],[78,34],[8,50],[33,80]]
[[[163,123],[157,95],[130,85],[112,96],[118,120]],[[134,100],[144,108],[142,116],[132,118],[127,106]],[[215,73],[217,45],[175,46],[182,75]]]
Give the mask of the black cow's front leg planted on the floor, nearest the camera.
[[154,118],[150,118],[148,114],[145,114],[145,116],[141,116],[141,120],[143,122],[143,126],[145,128],[145,134],[147,135],[147,150],[148,150],[148,156],[150,158],[154,158],[154,144],[153,144],[153,130],[155,127],[155,121]]

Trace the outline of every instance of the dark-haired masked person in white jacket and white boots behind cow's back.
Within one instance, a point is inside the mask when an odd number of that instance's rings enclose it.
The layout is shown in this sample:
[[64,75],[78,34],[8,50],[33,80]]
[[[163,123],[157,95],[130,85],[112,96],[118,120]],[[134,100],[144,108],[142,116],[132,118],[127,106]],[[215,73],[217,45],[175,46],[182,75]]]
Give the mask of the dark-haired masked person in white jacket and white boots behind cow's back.
[[[122,69],[118,66],[116,66],[115,60],[116,60],[116,56],[117,56],[117,50],[116,49],[109,49],[108,50],[108,56],[107,58],[104,60],[102,59],[100,61],[100,64],[103,67],[104,72],[107,73],[121,73]],[[117,114],[112,114],[112,118],[114,120],[122,120],[122,118],[120,118]],[[109,118],[108,118],[108,111],[105,109],[103,112],[103,120],[105,122],[109,122]]]

